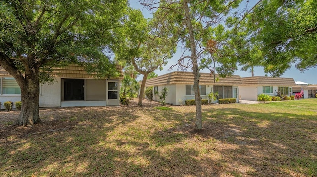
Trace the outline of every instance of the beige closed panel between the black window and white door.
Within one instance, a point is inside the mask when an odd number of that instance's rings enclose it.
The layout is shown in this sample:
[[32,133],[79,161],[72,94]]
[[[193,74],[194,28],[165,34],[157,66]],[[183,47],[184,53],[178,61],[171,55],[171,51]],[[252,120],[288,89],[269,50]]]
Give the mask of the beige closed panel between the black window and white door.
[[86,100],[106,100],[106,80],[86,79]]

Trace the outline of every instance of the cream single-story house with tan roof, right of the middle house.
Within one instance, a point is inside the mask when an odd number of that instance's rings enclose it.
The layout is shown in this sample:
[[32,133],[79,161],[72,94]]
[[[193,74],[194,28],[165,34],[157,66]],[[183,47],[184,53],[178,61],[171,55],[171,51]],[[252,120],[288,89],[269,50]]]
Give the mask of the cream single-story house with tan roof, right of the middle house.
[[293,78],[283,77],[241,77],[242,85],[239,85],[239,99],[258,99],[258,95],[267,94],[270,96],[288,95],[291,96],[292,88],[295,86]]

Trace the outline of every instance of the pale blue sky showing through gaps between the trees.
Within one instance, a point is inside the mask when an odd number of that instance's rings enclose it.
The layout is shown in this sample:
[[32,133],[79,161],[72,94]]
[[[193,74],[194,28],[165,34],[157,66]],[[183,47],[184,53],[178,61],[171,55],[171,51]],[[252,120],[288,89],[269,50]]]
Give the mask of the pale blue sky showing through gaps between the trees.
[[[250,0],[250,4],[256,3],[258,0]],[[135,9],[140,9],[145,16],[145,18],[151,18],[152,14],[150,11],[148,11],[146,8],[143,8],[142,5],[140,5],[138,0],[129,0],[130,6]],[[160,71],[155,70],[154,72],[158,75],[163,75],[169,72],[174,72],[174,71],[180,71],[177,70],[178,67],[174,67],[173,69],[169,70],[170,67],[174,64],[177,64],[177,60],[181,57],[182,51],[181,49],[178,49],[177,52],[174,54],[173,58],[168,60],[168,64],[163,67],[163,70]],[[203,69],[200,70],[201,73],[209,73],[210,71],[208,69]],[[251,72],[249,71],[240,71],[240,68],[235,71],[235,75],[240,75],[240,77],[251,77]],[[264,76],[265,72],[263,70],[263,67],[255,67],[254,68],[254,76]],[[269,74],[267,74],[270,76]],[[309,84],[317,84],[317,68],[310,68],[309,70],[306,70],[304,72],[301,72],[297,70],[294,66],[292,66],[290,69],[285,71],[285,73],[281,77],[287,77],[287,78],[293,78],[294,81],[302,81],[306,82]],[[139,76],[137,78],[138,80],[142,80],[142,77]]]

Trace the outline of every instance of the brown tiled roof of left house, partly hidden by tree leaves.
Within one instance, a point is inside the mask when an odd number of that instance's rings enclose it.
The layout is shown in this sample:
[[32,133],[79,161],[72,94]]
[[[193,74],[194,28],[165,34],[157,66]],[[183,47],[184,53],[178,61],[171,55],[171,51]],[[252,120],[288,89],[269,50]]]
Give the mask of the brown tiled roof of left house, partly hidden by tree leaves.
[[[122,67],[117,65],[117,70],[122,75]],[[88,74],[84,66],[70,64],[65,67],[55,67],[51,73],[53,77],[68,77],[68,78],[95,78],[96,73]],[[11,76],[0,66],[0,76]]]

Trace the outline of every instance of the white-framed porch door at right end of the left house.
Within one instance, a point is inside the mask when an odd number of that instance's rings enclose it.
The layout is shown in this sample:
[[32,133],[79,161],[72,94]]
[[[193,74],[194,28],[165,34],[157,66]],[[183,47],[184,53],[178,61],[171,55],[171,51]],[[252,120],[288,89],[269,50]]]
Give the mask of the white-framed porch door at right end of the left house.
[[119,81],[107,81],[107,105],[119,105]]

